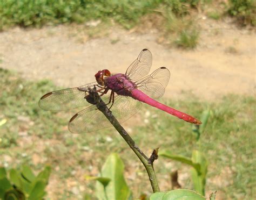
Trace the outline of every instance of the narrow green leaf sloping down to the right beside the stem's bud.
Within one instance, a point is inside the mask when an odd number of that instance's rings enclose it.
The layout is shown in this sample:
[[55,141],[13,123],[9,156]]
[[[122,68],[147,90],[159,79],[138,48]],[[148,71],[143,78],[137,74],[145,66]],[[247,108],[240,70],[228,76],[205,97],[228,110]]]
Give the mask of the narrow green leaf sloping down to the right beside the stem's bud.
[[190,165],[190,166],[194,167],[196,170],[198,170],[198,172],[200,171],[200,165],[198,163],[193,162],[192,159],[187,158],[183,155],[171,154],[170,151],[160,151],[158,153],[158,155],[161,155],[161,156],[164,156],[166,158],[170,158],[170,159],[185,163],[187,165]]

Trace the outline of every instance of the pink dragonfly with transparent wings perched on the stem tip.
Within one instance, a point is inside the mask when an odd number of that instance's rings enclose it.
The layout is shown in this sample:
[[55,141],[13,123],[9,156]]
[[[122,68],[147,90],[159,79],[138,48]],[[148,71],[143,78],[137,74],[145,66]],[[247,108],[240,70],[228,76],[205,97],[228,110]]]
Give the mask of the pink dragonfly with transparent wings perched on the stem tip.
[[154,100],[164,95],[170,72],[167,68],[160,67],[147,75],[151,65],[152,54],[148,49],[143,49],[125,74],[111,75],[107,69],[100,70],[95,75],[96,82],[78,88],[49,92],[41,97],[39,106],[44,110],[57,111],[90,105],[70,119],[69,130],[73,133],[92,132],[110,127],[110,122],[96,105],[86,101],[89,91],[96,88],[104,103],[121,123],[138,112],[141,102],[144,102],[186,122],[201,124],[198,119]]

